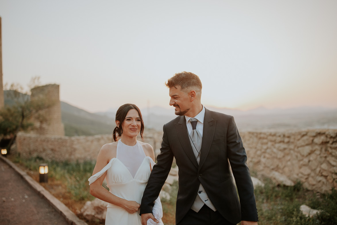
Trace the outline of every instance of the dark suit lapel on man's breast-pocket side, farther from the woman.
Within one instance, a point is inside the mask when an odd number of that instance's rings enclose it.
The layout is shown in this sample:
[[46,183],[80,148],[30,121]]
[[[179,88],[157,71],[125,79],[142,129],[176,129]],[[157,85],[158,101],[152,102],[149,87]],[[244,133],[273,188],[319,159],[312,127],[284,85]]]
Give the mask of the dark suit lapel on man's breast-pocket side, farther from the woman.
[[208,152],[211,148],[211,144],[214,137],[216,120],[211,116],[211,112],[205,108],[205,117],[204,117],[204,129],[203,129],[203,141],[201,144],[201,153],[200,153],[200,162],[198,171],[203,166]]

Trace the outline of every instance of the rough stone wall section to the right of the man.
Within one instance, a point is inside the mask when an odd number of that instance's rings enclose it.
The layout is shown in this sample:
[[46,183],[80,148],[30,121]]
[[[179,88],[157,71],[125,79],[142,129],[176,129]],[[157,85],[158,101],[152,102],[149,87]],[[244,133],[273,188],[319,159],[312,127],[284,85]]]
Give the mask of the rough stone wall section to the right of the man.
[[250,170],[269,176],[276,171],[309,190],[337,188],[337,130],[244,132]]

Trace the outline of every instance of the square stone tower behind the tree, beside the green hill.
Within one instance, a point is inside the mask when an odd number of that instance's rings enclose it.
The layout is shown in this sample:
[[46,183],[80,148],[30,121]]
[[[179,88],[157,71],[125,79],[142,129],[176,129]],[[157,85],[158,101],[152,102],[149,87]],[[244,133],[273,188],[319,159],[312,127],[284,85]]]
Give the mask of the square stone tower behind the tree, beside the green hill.
[[44,109],[41,114],[44,116],[44,122],[34,120],[36,130],[32,133],[40,135],[61,135],[64,136],[64,125],[61,120],[61,103],[60,103],[60,85],[48,84],[31,89],[31,100],[46,97],[47,101],[53,105]]

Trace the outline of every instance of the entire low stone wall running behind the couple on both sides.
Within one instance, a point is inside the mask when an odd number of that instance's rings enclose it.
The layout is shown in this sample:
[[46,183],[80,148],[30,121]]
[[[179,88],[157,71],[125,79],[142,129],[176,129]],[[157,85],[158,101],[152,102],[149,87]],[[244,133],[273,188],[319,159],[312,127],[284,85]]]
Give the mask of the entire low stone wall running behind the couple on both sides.
[[[337,130],[242,132],[248,166],[258,175],[276,171],[305,188],[319,192],[337,188]],[[162,132],[146,130],[143,142],[158,154]],[[140,137],[138,137],[141,140]],[[40,156],[46,160],[95,161],[101,146],[112,135],[42,136],[20,133],[17,151],[22,157]]]

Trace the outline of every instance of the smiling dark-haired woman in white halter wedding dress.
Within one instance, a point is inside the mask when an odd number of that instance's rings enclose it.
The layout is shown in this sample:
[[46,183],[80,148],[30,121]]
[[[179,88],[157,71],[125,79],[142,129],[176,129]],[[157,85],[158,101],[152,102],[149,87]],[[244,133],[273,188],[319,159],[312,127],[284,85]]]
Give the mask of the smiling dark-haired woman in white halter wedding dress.
[[[154,162],[150,144],[137,141],[143,138],[144,122],[139,108],[134,104],[119,107],[116,113],[115,142],[100,149],[93,175],[89,178],[90,194],[108,202],[105,224],[141,225],[140,202]],[[117,136],[116,136],[117,134]],[[120,139],[117,141],[117,137]],[[110,191],[102,187],[104,178]],[[156,218],[148,224],[161,224],[160,199],[155,201]]]

